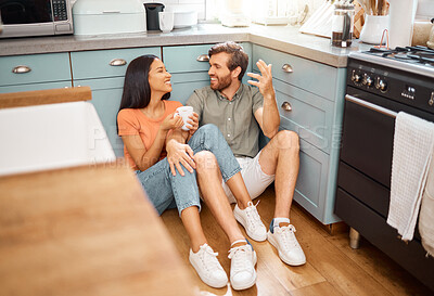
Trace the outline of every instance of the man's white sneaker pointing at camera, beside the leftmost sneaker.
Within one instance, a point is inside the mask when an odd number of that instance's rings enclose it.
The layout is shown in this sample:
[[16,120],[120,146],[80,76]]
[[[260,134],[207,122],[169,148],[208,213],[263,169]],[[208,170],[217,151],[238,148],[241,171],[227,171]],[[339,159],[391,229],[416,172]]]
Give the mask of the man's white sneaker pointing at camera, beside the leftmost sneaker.
[[232,247],[229,250],[231,259],[230,282],[233,289],[250,288],[256,283],[256,252],[250,244]]

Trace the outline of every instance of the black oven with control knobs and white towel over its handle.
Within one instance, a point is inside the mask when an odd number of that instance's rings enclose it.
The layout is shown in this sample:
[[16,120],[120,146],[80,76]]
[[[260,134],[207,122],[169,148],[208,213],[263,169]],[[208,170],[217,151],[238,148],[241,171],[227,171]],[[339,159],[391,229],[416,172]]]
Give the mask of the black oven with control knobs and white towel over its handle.
[[406,244],[386,223],[395,117],[406,112],[434,121],[434,70],[387,65],[383,54],[348,59],[335,214],[434,289],[434,259],[425,257],[419,233]]

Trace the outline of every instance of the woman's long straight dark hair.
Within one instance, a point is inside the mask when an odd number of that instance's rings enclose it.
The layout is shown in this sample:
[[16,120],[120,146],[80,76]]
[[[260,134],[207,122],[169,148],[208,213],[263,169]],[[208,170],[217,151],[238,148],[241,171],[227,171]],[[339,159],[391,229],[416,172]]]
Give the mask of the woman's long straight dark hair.
[[[151,87],[148,74],[152,62],[159,59],[153,54],[146,54],[132,60],[125,74],[124,91],[120,101],[119,113],[124,108],[144,108],[151,101]],[[163,95],[162,100],[168,100],[170,92]],[[116,129],[119,131],[116,118]]]

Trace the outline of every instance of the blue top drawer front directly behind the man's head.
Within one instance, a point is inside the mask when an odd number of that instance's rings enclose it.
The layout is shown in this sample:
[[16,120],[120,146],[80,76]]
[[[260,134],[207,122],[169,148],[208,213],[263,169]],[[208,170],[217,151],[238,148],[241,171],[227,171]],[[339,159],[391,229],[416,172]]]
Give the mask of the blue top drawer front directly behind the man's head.
[[[184,47],[164,47],[163,61],[167,70],[175,73],[190,72],[208,72],[208,61],[200,62],[199,56],[207,55],[208,50],[214,44],[204,46],[184,46]],[[252,56],[252,46],[250,43],[241,43],[248,56]],[[251,70],[251,67],[247,67]]]

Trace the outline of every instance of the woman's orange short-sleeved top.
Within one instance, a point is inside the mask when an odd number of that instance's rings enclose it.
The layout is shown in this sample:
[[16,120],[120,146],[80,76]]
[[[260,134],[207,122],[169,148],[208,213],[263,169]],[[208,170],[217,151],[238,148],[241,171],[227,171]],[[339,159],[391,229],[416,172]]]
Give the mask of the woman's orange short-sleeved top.
[[[118,134],[122,136],[133,136],[139,134],[140,139],[146,149],[151,147],[155,141],[159,126],[163,120],[178,107],[182,106],[177,101],[163,101],[165,104],[165,112],[162,117],[152,119],[146,117],[139,108],[124,108],[117,114],[117,126],[119,128]],[[166,146],[163,147],[159,159],[166,157]],[[124,155],[132,169],[139,169],[132,157],[129,155],[127,147],[124,144]]]

